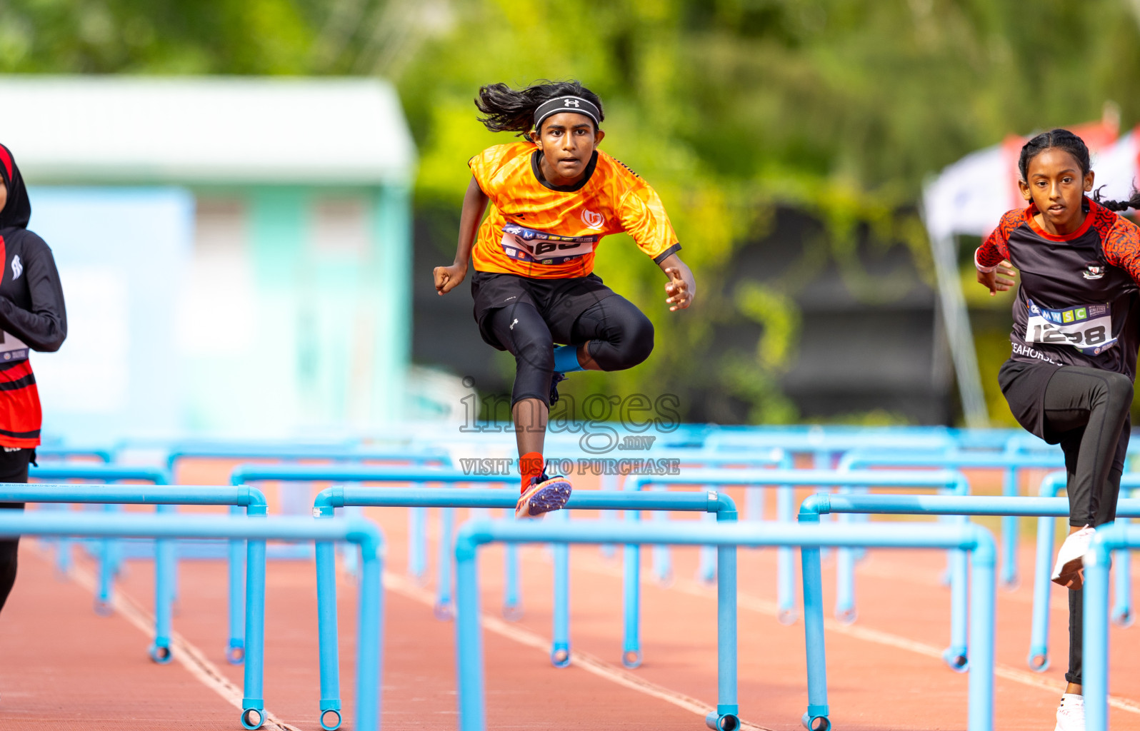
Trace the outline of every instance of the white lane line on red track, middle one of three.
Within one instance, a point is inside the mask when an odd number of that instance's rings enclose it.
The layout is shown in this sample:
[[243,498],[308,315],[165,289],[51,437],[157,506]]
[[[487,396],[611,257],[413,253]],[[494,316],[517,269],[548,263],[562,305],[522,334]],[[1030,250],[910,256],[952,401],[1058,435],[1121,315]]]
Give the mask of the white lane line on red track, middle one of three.
[[[422,586],[418,586],[406,576],[384,572],[384,589],[394,591],[427,607],[435,606],[435,596]],[[535,648],[544,656],[549,656],[551,640],[542,636],[540,634],[510,624],[498,617],[487,614],[482,615],[481,623],[483,629],[489,632],[514,640],[520,644]],[[637,675],[624,668],[617,667],[616,665],[610,665],[605,660],[589,655],[588,652],[571,650],[570,662],[572,667],[579,667],[587,673],[597,675],[598,677],[605,679],[624,688],[629,688],[630,690],[636,690],[637,692],[673,704],[678,708],[684,708],[685,711],[695,713],[701,718],[716,711],[712,706],[709,706],[708,704],[705,704],[691,696],[679,693],[675,690],[669,690],[663,685],[658,685],[657,683],[652,683],[643,677],[638,677]],[[752,731],[771,731],[765,726],[748,723],[746,721],[741,721],[741,728],[750,729]]]

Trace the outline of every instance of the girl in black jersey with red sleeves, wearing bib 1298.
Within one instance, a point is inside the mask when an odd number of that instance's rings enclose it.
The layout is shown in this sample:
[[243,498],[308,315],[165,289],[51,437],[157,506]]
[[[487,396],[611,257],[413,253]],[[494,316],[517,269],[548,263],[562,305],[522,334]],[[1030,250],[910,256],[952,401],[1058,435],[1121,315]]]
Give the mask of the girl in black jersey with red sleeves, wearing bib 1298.
[[1089,149],[1067,130],[1026,142],[1018,167],[1029,205],[1002,216],[975,263],[991,295],[1020,272],[997,380],[1021,426],[1065,452],[1070,529],[1053,581],[1070,590],[1069,670],[1057,731],[1083,731],[1081,557],[1093,528],[1116,517],[1140,347],[1140,231],[1114,211],[1140,208],[1140,195],[1085,196]]

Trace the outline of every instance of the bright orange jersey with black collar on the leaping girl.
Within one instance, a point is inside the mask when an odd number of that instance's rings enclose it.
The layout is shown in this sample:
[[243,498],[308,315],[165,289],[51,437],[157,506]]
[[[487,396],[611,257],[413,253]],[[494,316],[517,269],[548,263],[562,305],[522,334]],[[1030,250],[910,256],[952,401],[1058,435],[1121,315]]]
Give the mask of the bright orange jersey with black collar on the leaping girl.
[[530,142],[496,145],[467,163],[490,198],[472,250],[475,270],[537,279],[585,277],[602,237],[626,232],[653,261],[681,248],[661,198],[598,150],[573,186],[543,179]]

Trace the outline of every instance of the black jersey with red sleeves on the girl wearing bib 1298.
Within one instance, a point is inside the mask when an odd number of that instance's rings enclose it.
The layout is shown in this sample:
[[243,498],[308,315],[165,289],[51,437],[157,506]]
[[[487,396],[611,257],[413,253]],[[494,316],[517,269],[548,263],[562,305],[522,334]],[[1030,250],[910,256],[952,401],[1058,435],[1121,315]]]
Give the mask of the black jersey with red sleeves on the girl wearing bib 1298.
[[1010,332],[1015,361],[1084,366],[1135,378],[1140,347],[1140,229],[1084,199],[1067,236],[1043,231],[1037,208],[1010,211],[976,254],[979,268],[1008,260],[1021,277]]

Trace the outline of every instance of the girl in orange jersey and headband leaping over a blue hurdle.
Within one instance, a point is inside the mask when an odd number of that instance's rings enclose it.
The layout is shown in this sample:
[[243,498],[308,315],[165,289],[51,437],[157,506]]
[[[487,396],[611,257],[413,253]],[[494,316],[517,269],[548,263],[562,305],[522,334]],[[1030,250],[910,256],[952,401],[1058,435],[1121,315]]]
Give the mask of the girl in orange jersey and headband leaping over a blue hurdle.
[[597,95],[577,81],[520,90],[490,84],[475,106],[487,129],[526,141],[469,161],[455,263],[435,268],[435,289],[454,289],[473,261],[479,331],[516,363],[511,416],[522,495],[515,516],[535,517],[570,496],[570,482],[548,477],[543,459],[557,383],[577,370],[633,368],[653,350],[649,319],[593,273],[598,241],[629,233],[665,272],[670,311],[692,304],[695,285],[657,192],[597,149],[605,137]]

